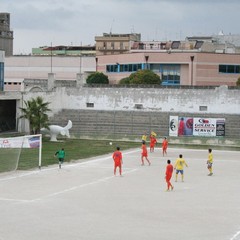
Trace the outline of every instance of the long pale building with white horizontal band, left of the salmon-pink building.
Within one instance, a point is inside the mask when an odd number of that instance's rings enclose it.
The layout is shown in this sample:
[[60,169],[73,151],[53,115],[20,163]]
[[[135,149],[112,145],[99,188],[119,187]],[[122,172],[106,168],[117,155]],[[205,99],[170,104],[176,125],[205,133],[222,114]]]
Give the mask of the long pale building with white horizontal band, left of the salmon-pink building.
[[95,71],[95,56],[10,56],[5,58],[4,89],[23,90],[24,80],[47,80],[49,73],[58,80],[76,80],[79,73]]

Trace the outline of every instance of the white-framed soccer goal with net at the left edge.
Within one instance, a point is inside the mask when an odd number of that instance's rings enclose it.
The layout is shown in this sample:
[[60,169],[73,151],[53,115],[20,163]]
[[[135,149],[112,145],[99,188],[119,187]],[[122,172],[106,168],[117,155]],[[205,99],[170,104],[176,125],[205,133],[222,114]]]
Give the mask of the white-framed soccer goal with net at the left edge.
[[0,173],[41,168],[42,135],[0,138]]

